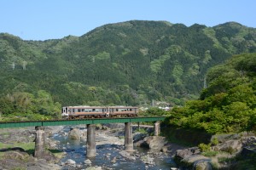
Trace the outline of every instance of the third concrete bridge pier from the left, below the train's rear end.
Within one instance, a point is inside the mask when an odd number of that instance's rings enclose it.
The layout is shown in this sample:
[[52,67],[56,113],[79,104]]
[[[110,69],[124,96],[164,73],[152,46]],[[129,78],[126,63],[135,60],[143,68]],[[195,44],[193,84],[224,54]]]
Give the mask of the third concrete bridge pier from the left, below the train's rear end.
[[125,150],[134,151],[131,122],[125,122]]

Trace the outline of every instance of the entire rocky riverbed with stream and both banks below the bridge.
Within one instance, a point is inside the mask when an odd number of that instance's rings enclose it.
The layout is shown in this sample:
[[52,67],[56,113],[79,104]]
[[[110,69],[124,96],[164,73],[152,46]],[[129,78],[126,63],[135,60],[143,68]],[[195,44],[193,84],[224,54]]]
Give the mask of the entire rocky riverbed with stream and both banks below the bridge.
[[253,169],[256,166],[256,137],[252,135],[218,135],[214,137],[218,144],[202,152],[198,147],[183,148],[167,143],[164,137],[149,136],[152,127],[143,131],[133,127],[135,151],[126,152],[123,126],[97,126],[96,157],[90,159],[86,158],[85,126],[46,127],[49,152],[42,159],[32,156],[34,127],[1,129],[0,169],[175,169],[172,156],[180,169],[212,169],[212,165],[213,168]]

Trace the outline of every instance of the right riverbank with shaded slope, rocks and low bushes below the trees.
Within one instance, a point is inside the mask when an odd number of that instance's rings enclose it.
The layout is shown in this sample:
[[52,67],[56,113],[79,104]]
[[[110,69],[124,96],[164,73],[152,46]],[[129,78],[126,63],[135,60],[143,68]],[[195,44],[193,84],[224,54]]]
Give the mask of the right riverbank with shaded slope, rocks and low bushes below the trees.
[[[191,129],[162,127],[171,143],[188,146],[176,150],[174,160],[181,169],[255,169],[254,133],[210,135]],[[193,146],[193,147],[191,147]]]

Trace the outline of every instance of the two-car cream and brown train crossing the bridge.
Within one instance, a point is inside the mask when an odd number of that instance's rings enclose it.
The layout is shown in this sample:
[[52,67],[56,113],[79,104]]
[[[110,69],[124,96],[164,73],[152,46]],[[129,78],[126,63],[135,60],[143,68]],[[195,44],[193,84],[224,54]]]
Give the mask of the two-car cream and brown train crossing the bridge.
[[132,106],[66,106],[62,107],[62,117],[84,119],[92,117],[137,116],[138,108]]

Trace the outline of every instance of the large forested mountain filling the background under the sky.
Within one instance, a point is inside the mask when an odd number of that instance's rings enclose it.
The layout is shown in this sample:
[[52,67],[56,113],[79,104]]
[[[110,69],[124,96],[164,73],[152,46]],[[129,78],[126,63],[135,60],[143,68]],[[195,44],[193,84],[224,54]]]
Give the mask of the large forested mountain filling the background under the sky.
[[[256,29],[235,22],[188,27],[131,20],[47,41],[1,33],[0,94],[4,105],[24,111],[25,104],[40,102],[149,105],[154,99],[182,105],[199,95],[208,68],[255,52]],[[32,111],[53,111],[40,107]]]

